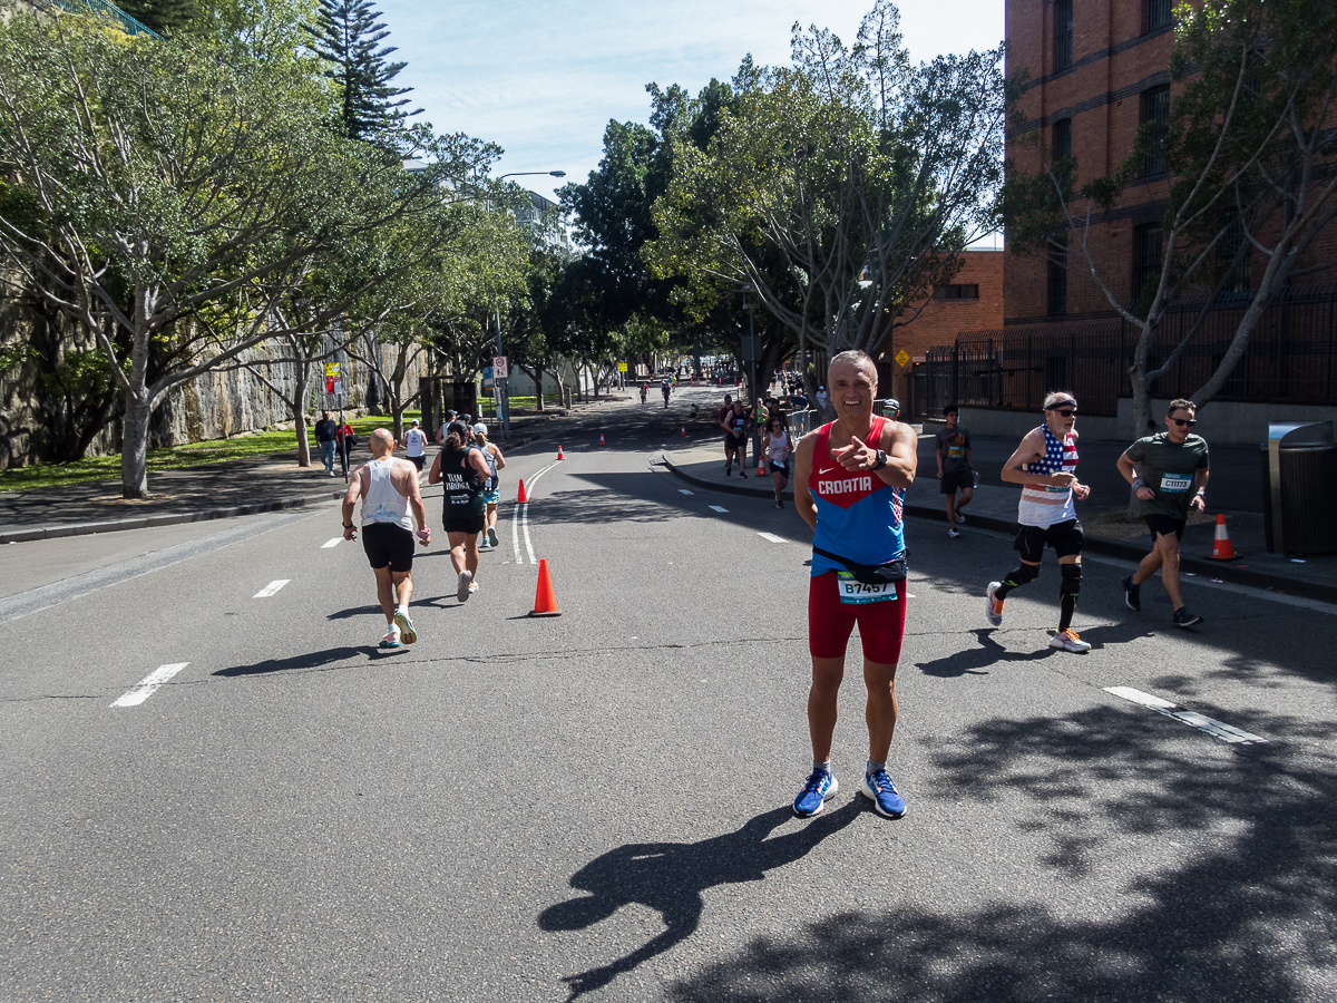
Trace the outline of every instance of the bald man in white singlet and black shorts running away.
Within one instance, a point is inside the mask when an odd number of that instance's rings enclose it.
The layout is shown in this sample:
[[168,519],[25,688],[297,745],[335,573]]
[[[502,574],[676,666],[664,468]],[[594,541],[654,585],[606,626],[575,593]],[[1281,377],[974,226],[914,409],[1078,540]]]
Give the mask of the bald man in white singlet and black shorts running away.
[[372,432],[368,447],[372,459],[353,472],[344,495],[344,539],[356,540],[353,506],[362,499],[362,550],[376,572],[376,598],[385,612],[381,647],[398,647],[417,641],[409,619],[413,596],[413,523],[418,542],[432,542],[417,471],[406,460],[394,459],[394,436],[389,429]]

